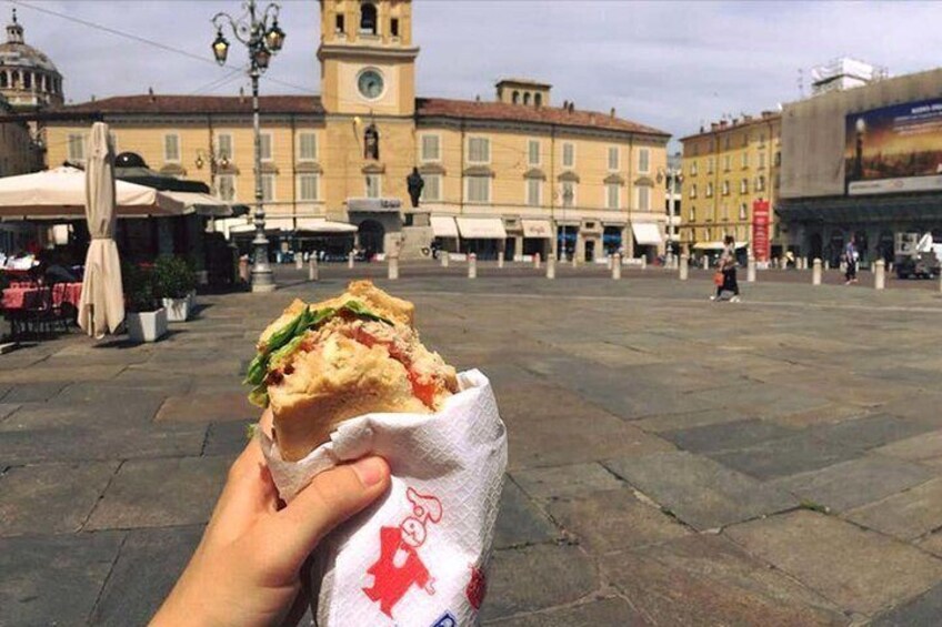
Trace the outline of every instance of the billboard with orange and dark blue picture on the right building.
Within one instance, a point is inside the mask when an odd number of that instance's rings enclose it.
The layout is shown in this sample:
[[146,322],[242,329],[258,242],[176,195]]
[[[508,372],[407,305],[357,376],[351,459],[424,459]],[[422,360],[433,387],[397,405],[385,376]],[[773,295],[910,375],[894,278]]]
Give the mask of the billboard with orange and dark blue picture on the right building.
[[845,119],[848,194],[942,191],[942,98]]

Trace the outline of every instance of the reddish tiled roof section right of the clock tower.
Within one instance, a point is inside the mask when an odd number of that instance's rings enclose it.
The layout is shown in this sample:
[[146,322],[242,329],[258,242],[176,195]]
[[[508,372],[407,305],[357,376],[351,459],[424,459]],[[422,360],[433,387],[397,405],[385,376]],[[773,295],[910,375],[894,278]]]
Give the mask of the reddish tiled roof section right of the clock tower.
[[537,124],[557,124],[582,129],[623,131],[669,138],[670,133],[645,127],[631,120],[613,118],[598,111],[568,111],[559,107],[529,107],[507,102],[477,102],[472,100],[450,100],[444,98],[418,98],[415,111],[425,118],[455,118],[460,120],[482,120],[491,122],[531,122]]

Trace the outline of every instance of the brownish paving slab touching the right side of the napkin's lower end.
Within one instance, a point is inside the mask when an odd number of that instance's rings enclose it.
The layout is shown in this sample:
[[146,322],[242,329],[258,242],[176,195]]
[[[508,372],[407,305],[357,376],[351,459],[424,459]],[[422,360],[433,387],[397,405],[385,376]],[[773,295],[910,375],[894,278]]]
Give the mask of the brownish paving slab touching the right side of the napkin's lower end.
[[597,591],[595,565],[579,547],[535,545],[494,552],[481,620],[569,604]]

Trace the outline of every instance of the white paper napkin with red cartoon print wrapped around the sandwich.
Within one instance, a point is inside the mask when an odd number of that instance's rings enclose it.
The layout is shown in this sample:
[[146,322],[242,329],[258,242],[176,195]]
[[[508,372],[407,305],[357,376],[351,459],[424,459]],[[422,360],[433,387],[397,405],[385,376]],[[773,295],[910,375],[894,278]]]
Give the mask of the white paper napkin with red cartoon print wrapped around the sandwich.
[[311,608],[318,627],[475,625],[487,589],[504,471],[507,429],[481,372],[434,414],[367,414],[343,423],[300,462],[264,434],[279,493],[367,454],[384,457],[391,489],[317,548]]

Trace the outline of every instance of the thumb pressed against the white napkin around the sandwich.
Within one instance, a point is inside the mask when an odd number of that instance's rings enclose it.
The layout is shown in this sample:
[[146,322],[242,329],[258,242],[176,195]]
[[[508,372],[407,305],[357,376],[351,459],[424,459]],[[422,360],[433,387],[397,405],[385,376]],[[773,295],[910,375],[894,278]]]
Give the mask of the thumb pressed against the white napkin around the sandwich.
[[271,519],[271,538],[298,567],[334,527],[375,500],[389,486],[389,465],[382,457],[363,457],[319,474]]

